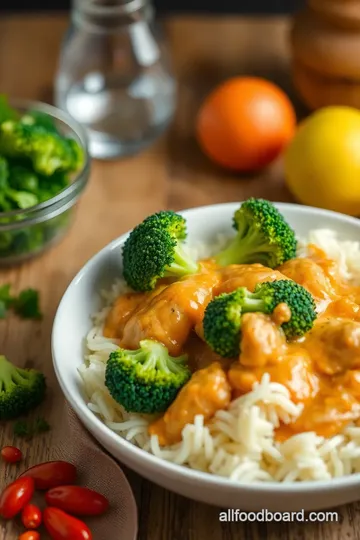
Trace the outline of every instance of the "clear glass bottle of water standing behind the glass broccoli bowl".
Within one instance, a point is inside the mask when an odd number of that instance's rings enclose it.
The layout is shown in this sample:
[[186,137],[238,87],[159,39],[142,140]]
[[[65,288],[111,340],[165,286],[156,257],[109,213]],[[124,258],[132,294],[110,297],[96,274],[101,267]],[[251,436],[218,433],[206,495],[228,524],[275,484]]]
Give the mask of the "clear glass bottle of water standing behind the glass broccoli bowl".
[[73,0],[55,101],[87,128],[94,158],[133,154],[165,130],[176,84],[148,0]]

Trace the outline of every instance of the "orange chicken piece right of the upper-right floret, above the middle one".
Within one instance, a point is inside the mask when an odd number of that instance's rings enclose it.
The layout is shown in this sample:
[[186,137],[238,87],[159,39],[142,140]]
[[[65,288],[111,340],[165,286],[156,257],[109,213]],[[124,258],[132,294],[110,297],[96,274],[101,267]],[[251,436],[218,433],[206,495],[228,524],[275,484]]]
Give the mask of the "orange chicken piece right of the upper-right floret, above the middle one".
[[309,291],[316,302],[318,313],[323,312],[336,297],[330,279],[323,268],[312,259],[291,259],[279,266],[278,270]]

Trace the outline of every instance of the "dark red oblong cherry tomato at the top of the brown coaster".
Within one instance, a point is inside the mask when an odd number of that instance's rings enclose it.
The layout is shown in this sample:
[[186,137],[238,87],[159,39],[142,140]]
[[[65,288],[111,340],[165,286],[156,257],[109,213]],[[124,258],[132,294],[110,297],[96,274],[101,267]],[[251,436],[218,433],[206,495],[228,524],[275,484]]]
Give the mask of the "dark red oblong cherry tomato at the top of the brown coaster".
[[73,484],[76,479],[76,467],[67,461],[47,461],[30,467],[21,476],[33,478],[36,489],[51,489]]

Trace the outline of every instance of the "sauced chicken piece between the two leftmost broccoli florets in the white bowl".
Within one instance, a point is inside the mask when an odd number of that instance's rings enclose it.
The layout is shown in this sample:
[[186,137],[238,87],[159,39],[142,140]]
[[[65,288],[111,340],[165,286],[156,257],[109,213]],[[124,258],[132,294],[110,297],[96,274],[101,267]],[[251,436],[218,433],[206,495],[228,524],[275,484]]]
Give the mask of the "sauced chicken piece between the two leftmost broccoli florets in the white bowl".
[[179,355],[191,330],[202,320],[218,280],[217,273],[205,272],[167,286],[129,318],[121,346],[136,349],[142,339],[155,339],[170,355]]

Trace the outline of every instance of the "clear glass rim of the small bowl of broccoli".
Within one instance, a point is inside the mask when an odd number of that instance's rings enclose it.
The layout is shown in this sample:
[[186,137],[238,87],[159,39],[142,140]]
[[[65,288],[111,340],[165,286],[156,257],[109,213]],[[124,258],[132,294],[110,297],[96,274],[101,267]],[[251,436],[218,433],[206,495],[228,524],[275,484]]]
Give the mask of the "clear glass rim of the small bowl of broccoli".
[[[77,120],[70,116],[70,114],[68,114],[66,111],[63,111],[58,107],[55,107],[54,105],[49,105],[48,103],[44,103],[42,101],[17,98],[9,98],[9,104],[15,109],[23,109],[25,111],[33,109],[39,112],[44,112],[56,120],[60,120],[60,122],[66,124],[66,126],[71,129],[72,133],[76,135],[76,138],[78,139],[78,142],[81,144],[81,147],[84,151],[84,164],[82,168],[80,169],[80,171],[76,172],[71,184],[59,191],[59,193],[57,193],[50,199],[34,206],[30,206],[29,208],[20,208],[18,210],[10,210],[9,212],[0,212],[0,219],[24,216],[24,219],[19,220],[16,223],[20,223],[21,226],[25,226],[28,224],[28,222],[30,223],[32,222],[32,219],[34,219],[31,217],[33,213],[42,212],[46,208],[49,208],[53,205],[58,205],[62,201],[71,198],[73,194],[77,195],[85,187],[88,181],[91,165],[91,157],[89,153],[89,137],[87,130],[82,124],[80,124]],[[0,223],[0,230],[2,230],[3,226],[9,227],[8,224]]]

